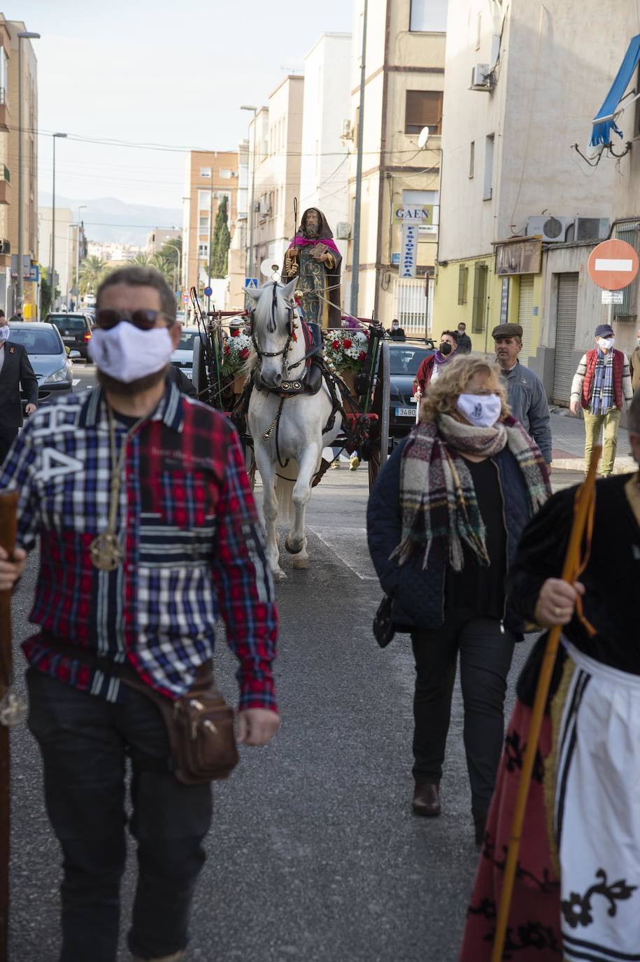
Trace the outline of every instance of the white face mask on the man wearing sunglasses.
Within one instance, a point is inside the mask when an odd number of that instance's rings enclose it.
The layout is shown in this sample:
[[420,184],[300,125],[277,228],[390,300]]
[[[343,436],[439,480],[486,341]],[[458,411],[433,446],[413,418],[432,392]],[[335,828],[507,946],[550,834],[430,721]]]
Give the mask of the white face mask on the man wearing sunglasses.
[[105,374],[131,384],[165,367],[173,353],[173,343],[166,327],[141,331],[128,320],[121,320],[109,331],[96,328],[87,351]]

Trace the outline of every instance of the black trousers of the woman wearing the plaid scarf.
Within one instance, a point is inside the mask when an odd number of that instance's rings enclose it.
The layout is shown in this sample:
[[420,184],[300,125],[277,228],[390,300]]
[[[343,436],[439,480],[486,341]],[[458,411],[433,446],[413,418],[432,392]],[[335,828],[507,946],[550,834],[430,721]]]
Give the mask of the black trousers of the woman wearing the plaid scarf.
[[416,669],[413,777],[432,784],[442,777],[459,651],[472,808],[484,814],[505,737],[506,676],[515,638],[501,633],[498,620],[457,610],[447,614],[442,628],[415,631],[411,641]]

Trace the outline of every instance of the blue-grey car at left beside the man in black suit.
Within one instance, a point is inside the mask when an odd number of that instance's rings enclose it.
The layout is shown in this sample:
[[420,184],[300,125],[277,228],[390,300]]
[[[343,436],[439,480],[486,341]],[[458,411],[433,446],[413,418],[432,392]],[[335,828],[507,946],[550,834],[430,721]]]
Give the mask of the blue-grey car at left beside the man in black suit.
[[[67,354],[61,333],[54,324],[13,320],[9,334],[9,343],[12,342],[27,349],[37,377],[38,404],[73,391],[72,361],[80,355],[77,351]],[[23,406],[27,403],[24,396],[22,403]]]

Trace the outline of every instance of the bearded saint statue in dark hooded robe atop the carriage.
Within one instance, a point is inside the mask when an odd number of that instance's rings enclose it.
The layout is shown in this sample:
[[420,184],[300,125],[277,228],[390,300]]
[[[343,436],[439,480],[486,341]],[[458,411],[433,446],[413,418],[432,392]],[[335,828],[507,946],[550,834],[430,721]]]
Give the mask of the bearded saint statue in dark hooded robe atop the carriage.
[[322,327],[340,327],[340,267],[342,256],[327,218],[315,207],[302,216],[300,231],[284,255],[283,284],[298,276],[305,320]]

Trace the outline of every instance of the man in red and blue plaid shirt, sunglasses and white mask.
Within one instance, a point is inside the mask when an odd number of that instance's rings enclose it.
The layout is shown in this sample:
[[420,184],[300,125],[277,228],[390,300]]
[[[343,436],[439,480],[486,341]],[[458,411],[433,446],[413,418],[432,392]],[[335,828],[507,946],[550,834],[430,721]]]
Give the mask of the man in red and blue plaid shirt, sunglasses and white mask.
[[127,756],[134,959],[184,957],[205,860],[210,787],[175,779],[157,706],[117,666],[182,696],[211,658],[222,616],[239,661],[239,741],[265,745],[279,724],[277,612],[242,451],[226,418],[166,377],[175,314],[158,272],[111,273],[91,346],[100,386],[33,415],[0,478],[20,493],[20,547],[12,562],[0,549],[0,590],[40,538],[39,631],[23,647],[29,725],[63,852],[61,962],[116,957]]

